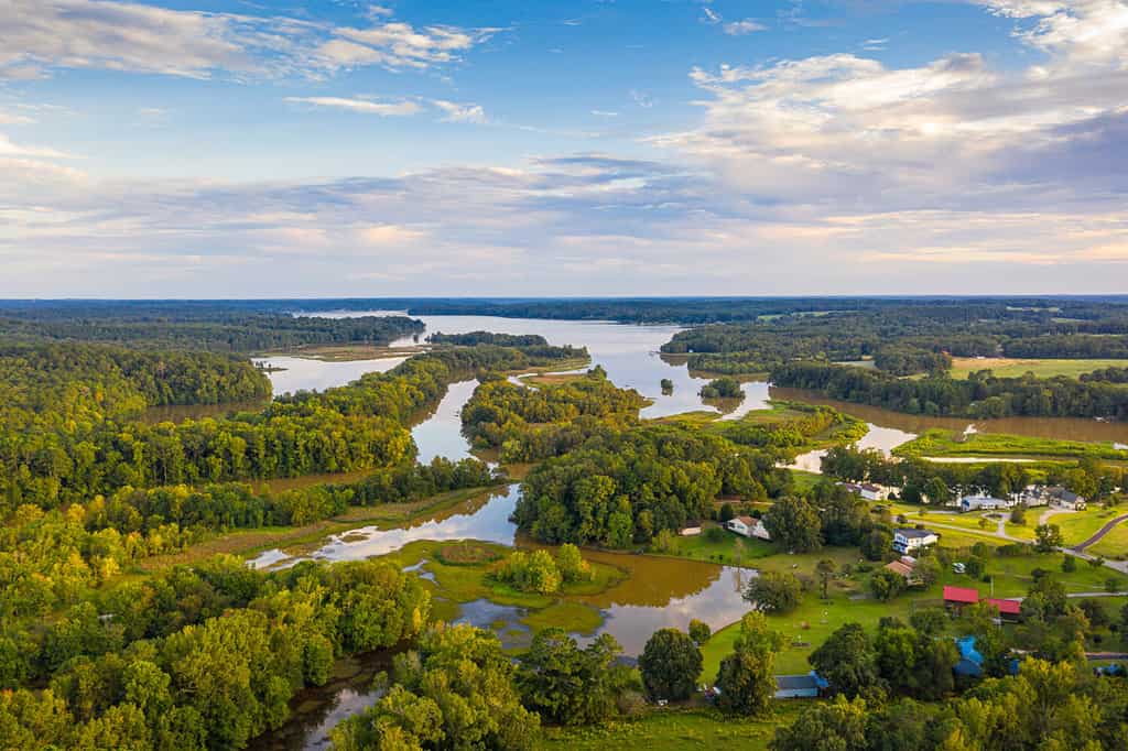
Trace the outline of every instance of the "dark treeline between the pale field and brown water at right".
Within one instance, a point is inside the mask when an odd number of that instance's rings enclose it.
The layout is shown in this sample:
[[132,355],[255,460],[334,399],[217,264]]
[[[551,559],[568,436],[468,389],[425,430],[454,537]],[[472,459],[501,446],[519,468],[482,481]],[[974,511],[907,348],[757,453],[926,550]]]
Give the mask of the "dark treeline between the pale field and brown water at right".
[[1128,419],[1128,388],[1065,377],[994,378],[972,373],[902,379],[875,370],[826,363],[791,363],[772,371],[776,386],[897,412],[963,417],[1113,417]]

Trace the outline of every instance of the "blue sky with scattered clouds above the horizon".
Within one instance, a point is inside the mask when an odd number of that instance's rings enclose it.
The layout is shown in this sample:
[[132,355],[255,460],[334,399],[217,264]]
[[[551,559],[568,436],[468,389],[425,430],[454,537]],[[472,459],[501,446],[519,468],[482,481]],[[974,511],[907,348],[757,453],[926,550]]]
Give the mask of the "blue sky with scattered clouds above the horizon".
[[0,0],[0,297],[1128,292],[1128,0]]

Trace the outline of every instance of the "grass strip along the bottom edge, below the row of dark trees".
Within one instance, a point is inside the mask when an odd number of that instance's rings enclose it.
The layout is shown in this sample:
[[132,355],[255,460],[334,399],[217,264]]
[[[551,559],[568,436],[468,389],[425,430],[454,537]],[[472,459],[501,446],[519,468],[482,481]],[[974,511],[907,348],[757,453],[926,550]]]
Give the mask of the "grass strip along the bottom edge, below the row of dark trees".
[[765,719],[722,717],[713,709],[651,709],[643,717],[602,727],[546,727],[538,749],[767,749],[775,728],[795,719],[805,701],[781,701]]

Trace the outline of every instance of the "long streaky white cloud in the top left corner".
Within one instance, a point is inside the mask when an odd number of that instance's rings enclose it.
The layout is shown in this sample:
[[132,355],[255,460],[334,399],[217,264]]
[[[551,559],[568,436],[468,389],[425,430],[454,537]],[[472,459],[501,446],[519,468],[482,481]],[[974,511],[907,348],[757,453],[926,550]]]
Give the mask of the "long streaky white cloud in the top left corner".
[[284,16],[170,10],[115,0],[0,0],[0,78],[96,68],[187,78],[302,74],[455,63],[499,29],[387,21],[367,28]]

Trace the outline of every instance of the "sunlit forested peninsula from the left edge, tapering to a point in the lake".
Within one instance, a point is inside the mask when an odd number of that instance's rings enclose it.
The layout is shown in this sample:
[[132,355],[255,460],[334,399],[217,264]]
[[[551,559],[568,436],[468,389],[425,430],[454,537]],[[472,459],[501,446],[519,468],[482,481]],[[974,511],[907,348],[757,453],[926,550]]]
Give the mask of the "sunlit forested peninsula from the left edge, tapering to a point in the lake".
[[[444,348],[323,394],[299,392],[261,412],[160,423],[130,422],[106,395],[71,383],[58,401],[17,371],[17,405],[0,417],[0,500],[50,509],[122,487],[196,485],[390,467],[414,457],[409,421],[459,378],[570,360],[571,348]],[[261,377],[259,377],[261,378]],[[147,403],[135,395],[134,407]],[[116,405],[125,396],[109,399]]]

